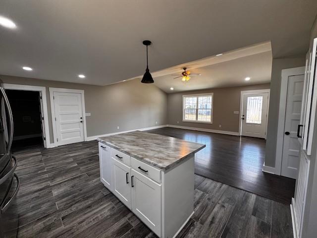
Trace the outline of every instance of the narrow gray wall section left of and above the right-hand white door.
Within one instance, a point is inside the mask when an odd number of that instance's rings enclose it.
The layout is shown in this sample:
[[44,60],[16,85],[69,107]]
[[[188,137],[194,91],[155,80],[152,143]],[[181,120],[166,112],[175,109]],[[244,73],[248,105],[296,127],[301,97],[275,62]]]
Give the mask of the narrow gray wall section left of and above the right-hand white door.
[[275,167],[277,120],[282,69],[305,66],[305,56],[273,59],[267,122],[265,166]]

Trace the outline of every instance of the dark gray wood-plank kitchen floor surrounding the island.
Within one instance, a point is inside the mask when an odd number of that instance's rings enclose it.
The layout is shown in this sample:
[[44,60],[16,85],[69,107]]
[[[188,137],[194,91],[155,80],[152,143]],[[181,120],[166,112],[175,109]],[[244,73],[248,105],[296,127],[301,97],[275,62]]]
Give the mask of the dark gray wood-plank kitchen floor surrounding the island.
[[[15,152],[20,238],[155,238],[99,178],[96,141]],[[178,238],[291,238],[288,205],[195,175],[195,213]]]

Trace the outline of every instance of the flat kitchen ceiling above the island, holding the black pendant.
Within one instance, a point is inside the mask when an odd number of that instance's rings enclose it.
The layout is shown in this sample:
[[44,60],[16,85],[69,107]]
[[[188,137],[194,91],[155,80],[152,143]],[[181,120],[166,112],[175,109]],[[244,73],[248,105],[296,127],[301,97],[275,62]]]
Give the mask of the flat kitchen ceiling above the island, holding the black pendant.
[[151,72],[264,41],[298,55],[316,13],[316,0],[1,0],[17,28],[0,27],[0,74],[107,85],[144,73],[143,40]]

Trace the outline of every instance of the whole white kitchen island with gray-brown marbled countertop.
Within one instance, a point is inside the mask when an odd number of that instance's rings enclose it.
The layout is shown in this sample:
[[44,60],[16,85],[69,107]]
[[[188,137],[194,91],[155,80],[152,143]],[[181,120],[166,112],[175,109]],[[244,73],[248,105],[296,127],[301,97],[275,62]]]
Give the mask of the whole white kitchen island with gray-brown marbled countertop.
[[101,181],[160,238],[194,213],[195,153],[206,145],[133,131],[98,138]]

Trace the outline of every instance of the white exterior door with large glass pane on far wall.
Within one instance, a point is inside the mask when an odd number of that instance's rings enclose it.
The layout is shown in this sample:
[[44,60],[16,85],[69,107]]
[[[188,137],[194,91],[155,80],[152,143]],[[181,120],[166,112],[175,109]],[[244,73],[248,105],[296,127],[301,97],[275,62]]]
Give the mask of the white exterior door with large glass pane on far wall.
[[243,94],[241,135],[265,138],[268,93]]

